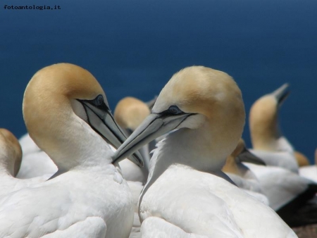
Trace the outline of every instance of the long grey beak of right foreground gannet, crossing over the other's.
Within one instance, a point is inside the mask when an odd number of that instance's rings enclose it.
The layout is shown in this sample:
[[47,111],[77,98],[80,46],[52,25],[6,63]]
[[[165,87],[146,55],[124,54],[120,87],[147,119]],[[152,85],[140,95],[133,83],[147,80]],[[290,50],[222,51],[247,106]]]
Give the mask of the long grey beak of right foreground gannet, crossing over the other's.
[[174,130],[190,115],[192,115],[192,113],[182,113],[180,115],[151,113],[118,148],[113,155],[113,161],[121,161],[126,156],[144,146],[144,144],[151,142],[162,134]]

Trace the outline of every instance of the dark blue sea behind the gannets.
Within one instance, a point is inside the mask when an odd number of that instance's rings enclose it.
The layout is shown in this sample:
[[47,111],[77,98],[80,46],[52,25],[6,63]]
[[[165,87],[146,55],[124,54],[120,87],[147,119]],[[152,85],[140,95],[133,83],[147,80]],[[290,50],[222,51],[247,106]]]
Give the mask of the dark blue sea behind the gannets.
[[[60,6],[14,10],[4,6]],[[0,5],[0,127],[26,132],[23,92],[37,70],[75,63],[124,96],[159,94],[189,65],[223,70],[251,104],[285,82],[280,127],[313,161],[317,146],[316,0],[4,0]],[[248,122],[244,139],[250,146]]]

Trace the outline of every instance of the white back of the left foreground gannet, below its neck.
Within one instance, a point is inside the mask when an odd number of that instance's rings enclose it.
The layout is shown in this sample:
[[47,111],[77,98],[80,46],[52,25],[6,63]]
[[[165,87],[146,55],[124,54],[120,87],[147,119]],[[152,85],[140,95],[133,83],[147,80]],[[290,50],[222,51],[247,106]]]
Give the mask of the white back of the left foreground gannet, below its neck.
[[[132,195],[119,174],[107,172],[103,175],[96,171],[69,171],[3,197],[0,237],[53,235],[58,230],[73,230],[77,223],[85,227],[92,220],[95,223],[87,227],[89,230],[97,229],[98,234],[103,234],[106,229],[107,237],[127,237],[133,219]],[[101,218],[104,225],[96,218]],[[82,237],[80,232],[86,231],[78,230],[78,237]]]

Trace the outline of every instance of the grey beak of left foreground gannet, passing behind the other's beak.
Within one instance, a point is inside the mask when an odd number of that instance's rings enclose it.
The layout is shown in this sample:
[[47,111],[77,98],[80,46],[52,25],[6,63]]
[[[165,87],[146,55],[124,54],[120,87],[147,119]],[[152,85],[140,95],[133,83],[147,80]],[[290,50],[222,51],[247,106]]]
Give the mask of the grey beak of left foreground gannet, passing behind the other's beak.
[[[94,129],[94,131],[101,135],[106,142],[118,149],[118,147],[125,142],[127,137],[125,136],[122,128],[117,125],[108,106],[106,106],[106,104],[95,106],[89,100],[78,99],[78,101],[80,101],[82,106],[85,108],[89,125]],[[139,154],[139,151],[136,151],[128,157],[128,159],[139,167],[143,167],[144,165],[143,158],[141,154]],[[115,161],[113,161],[113,163],[114,162]]]

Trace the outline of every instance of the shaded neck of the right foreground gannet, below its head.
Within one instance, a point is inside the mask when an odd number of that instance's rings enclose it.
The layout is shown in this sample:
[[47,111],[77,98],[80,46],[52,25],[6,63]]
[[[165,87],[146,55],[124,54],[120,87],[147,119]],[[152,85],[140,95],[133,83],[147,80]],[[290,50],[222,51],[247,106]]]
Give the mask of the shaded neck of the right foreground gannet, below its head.
[[174,164],[187,165],[195,170],[223,177],[221,169],[227,156],[235,149],[241,134],[234,137],[232,134],[226,136],[222,128],[211,128],[208,124],[195,130],[182,128],[168,134],[157,144],[151,158],[146,187],[150,187]]

